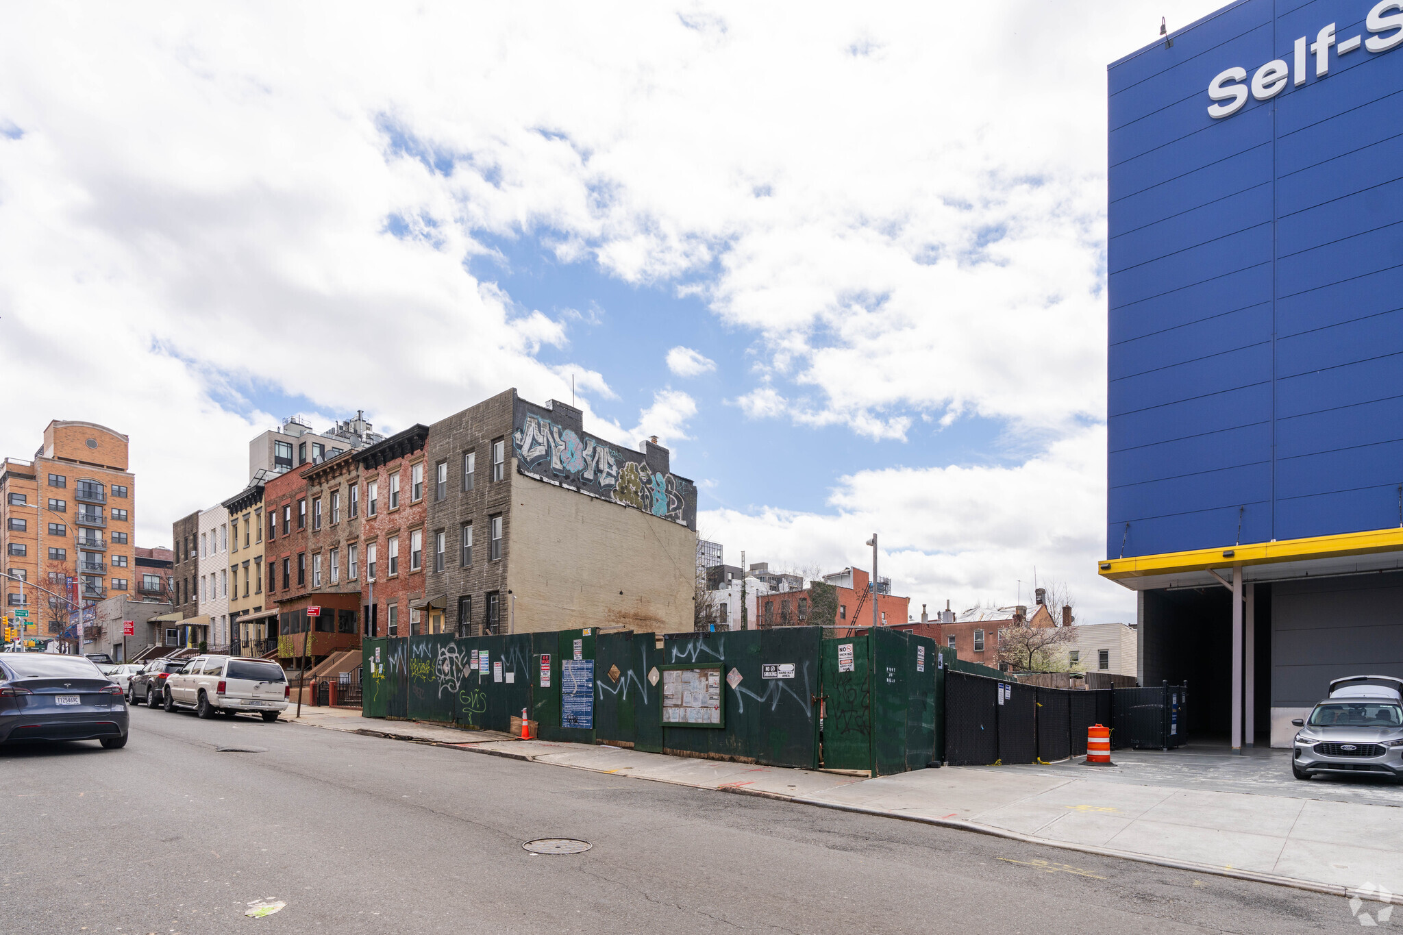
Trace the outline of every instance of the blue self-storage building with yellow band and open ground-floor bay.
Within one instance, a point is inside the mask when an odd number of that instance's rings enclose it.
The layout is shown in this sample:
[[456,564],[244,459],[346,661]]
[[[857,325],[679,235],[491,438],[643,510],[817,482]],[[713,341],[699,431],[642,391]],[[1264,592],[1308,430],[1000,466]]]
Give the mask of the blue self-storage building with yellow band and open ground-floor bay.
[[1403,676],[1403,3],[1244,0],[1108,94],[1101,575],[1146,684],[1282,744]]

